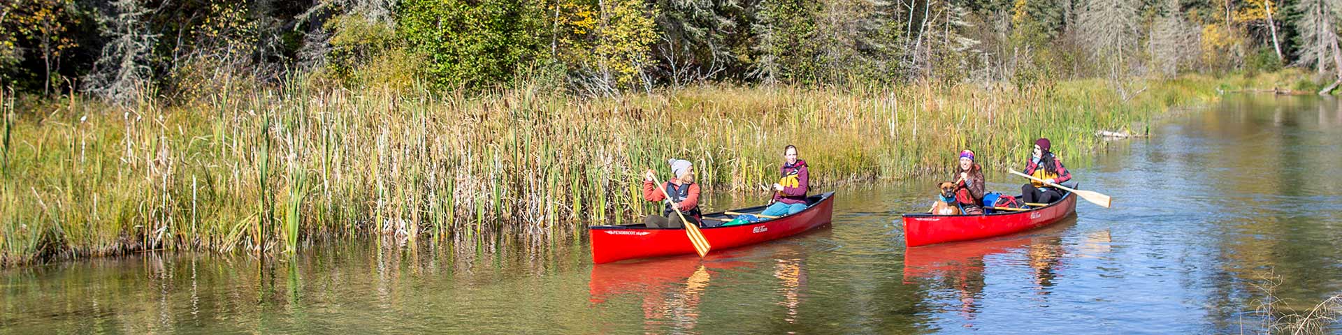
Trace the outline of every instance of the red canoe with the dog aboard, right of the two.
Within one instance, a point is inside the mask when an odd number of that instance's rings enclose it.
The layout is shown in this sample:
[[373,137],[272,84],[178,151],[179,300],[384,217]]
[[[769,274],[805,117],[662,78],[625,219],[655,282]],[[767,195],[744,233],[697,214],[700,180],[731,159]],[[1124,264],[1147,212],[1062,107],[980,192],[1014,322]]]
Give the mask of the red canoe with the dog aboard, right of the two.
[[968,241],[1024,232],[1062,221],[1076,212],[1076,194],[1024,212],[996,212],[977,216],[905,214],[905,245],[918,247]]

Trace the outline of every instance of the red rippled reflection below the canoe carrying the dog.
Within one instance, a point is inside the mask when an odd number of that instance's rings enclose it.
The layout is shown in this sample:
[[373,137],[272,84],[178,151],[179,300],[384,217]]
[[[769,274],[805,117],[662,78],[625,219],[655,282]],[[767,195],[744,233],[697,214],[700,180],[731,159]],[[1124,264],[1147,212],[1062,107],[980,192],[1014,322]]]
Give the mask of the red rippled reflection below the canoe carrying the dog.
[[1047,295],[1064,255],[1059,234],[1075,224],[1075,217],[1066,220],[1068,221],[1039,230],[997,239],[910,247],[905,249],[905,284],[931,284],[934,291],[954,291],[953,299],[958,300],[958,306],[953,310],[965,320],[973,320],[986,287],[984,269],[989,264],[984,257],[1002,255],[1009,259],[1011,255],[1017,255],[1024,256],[1029,265],[1031,281],[1039,293]]

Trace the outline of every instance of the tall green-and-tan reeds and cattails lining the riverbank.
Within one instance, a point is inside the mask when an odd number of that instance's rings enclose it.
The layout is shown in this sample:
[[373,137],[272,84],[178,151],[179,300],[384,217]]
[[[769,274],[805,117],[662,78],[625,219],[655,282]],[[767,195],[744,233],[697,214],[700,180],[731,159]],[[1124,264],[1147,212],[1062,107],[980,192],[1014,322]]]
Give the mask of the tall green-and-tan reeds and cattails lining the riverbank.
[[1103,80],[597,100],[527,86],[478,96],[294,86],[170,107],[5,95],[0,267],[142,249],[293,252],[333,236],[576,236],[651,210],[628,176],[664,173],[671,157],[694,161],[710,192],[772,182],[786,143],[817,188],[943,173],[964,147],[996,169],[1040,135],[1060,155],[1091,155],[1096,130],[1256,80],[1153,79],[1126,102]]

